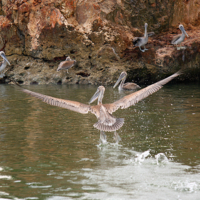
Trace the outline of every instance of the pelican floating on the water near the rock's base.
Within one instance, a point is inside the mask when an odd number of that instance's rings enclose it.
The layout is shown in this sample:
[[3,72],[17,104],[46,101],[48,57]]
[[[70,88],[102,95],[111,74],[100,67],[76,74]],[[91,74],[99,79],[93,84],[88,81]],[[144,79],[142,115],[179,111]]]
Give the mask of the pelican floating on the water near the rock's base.
[[113,88],[115,88],[120,82],[120,85],[118,87],[118,90],[136,90],[138,88],[140,88],[139,85],[137,85],[136,83],[124,83],[127,77],[127,73],[126,72],[122,72],[117,80],[117,82],[115,83],[115,85],[113,86]]

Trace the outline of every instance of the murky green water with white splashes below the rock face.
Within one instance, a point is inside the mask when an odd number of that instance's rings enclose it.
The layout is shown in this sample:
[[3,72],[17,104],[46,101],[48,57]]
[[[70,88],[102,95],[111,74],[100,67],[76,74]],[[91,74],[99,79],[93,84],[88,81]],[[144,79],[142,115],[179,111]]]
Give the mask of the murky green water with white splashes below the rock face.
[[[87,103],[92,86],[29,86]],[[106,88],[104,103],[126,93]],[[0,199],[200,199],[200,85],[167,85],[125,118],[115,145],[99,145],[96,117],[0,85]],[[150,150],[145,159],[140,155]],[[157,163],[164,153],[167,161]],[[143,155],[143,154],[142,154]]]

